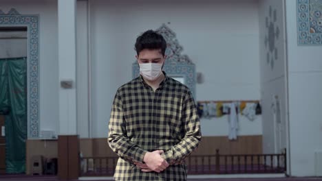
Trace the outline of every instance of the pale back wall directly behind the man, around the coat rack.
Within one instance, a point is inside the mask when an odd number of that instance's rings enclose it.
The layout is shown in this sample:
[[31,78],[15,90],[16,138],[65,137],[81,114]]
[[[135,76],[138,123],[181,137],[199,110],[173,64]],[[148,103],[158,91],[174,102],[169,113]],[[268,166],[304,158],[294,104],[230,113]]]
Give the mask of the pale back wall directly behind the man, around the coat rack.
[[[167,24],[204,74],[197,100],[260,99],[258,1],[91,1],[94,137],[107,136],[116,89],[131,80],[136,37]],[[261,134],[241,118],[240,134]],[[227,128],[227,129],[226,129]],[[227,117],[202,120],[204,136],[228,134]]]

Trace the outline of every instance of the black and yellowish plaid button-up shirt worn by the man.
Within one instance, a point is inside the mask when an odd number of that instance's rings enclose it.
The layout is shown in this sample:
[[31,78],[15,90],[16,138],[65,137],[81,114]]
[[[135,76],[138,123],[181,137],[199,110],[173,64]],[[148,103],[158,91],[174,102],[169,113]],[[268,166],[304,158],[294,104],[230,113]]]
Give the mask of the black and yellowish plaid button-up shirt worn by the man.
[[[155,91],[139,76],[116,92],[107,139],[120,157],[115,180],[186,180],[184,158],[201,141],[200,120],[189,88],[165,77]],[[170,165],[161,173],[133,164],[157,149]]]

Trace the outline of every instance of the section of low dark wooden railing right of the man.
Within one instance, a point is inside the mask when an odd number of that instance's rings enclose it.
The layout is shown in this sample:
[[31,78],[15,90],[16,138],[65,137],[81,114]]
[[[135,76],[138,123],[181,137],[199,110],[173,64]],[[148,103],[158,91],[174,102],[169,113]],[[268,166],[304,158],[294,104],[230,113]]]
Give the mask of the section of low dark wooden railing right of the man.
[[284,173],[286,152],[283,154],[219,154],[189,156],[188,174]]

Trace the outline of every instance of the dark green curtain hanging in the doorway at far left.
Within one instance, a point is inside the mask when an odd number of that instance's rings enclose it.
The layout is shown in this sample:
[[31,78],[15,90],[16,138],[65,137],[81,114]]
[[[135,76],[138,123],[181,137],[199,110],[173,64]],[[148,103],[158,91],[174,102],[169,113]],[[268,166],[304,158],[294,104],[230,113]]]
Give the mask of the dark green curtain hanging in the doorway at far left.
[[6,172],[25,173],[27,58],[0,59],[0,112],[6,110]]

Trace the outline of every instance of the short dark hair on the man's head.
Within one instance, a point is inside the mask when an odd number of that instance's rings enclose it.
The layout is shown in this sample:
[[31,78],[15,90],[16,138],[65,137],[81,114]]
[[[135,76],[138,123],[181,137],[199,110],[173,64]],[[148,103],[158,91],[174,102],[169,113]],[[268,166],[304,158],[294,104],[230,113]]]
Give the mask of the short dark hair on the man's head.
[[136,38],[135,50],[138,55],[143,49],[161,49],[164,56],[166,48],[167,43],[163,36],[151,29]]

